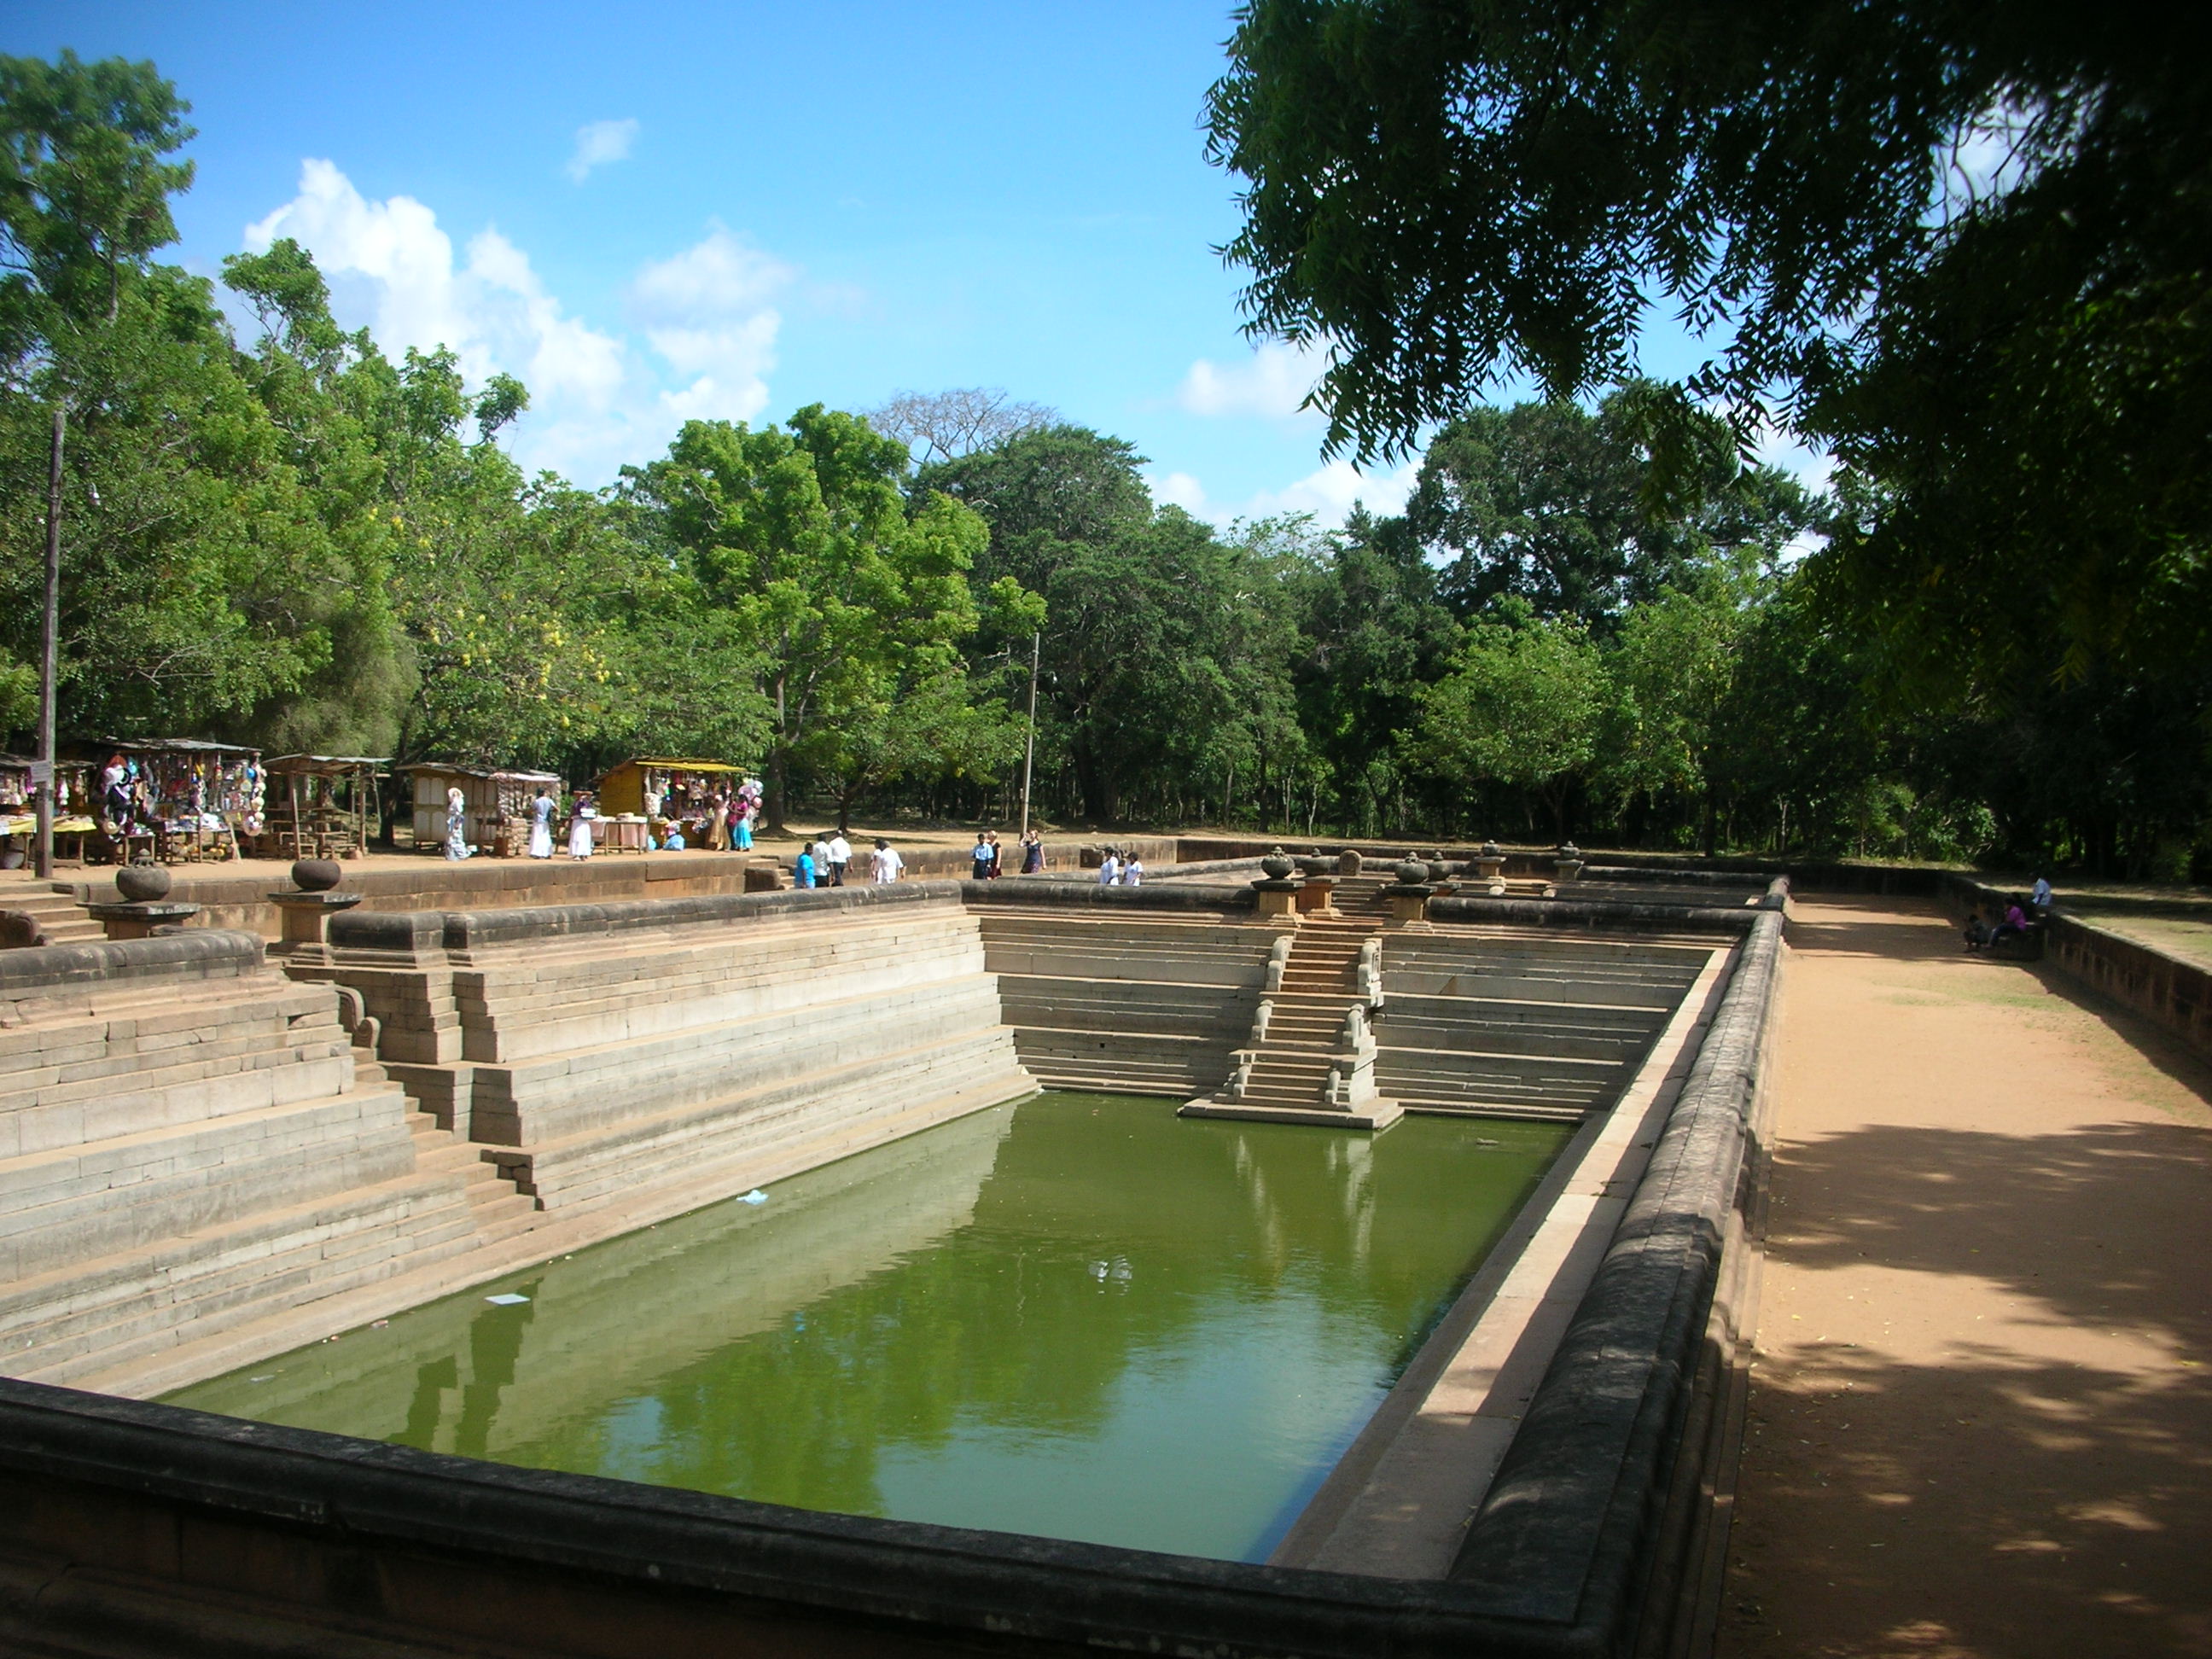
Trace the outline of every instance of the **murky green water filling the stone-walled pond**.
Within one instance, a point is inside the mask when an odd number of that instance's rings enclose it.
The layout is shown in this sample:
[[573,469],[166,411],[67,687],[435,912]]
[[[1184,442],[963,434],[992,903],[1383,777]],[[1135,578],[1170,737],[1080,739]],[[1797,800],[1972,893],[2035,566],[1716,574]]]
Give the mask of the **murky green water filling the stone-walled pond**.
[[1566,1135],[1409,1117],[1369,1137],[1042,1095],[168,1398],[803,1509],[1263,1559]]

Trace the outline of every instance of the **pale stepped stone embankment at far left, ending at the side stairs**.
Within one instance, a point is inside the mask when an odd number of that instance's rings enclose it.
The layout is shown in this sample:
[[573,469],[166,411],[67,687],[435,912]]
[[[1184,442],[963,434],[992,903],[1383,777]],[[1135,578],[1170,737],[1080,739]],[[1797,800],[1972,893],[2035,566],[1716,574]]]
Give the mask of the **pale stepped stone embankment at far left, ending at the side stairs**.
[[352,1046],[338,998],[270,971],[259,938],[0,953],[11,1374],[148,1363],[529,1223],[529,1199]]

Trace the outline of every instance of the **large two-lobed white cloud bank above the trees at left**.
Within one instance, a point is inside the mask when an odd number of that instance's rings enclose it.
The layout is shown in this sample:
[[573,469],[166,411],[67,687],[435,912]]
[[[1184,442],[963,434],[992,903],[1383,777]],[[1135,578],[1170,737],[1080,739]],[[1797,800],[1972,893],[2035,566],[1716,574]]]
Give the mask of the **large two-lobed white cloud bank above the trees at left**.
[[243,241],[261,252],[279,237],[314,254],[338,321],[367,325],[389,356],[445,345],[471,387],[520,376],[531,409],[513,429],[515,460],[584,484],[648,460],[684,420],[763,414],[783,325],[770,301],[799,276],[717,226],[630,283],[646,352],[571,316],[500,230],[456,252],[431,208],[398,195],[372,201],[332,161],[303,161],[299,195]]

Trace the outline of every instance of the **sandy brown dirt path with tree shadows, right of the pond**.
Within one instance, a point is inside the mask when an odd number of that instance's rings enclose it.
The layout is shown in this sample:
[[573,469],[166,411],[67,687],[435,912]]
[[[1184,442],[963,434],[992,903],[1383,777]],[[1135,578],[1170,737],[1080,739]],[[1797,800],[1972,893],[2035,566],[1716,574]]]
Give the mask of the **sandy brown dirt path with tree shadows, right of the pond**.
[[1792,909],[1719,1652],[2212,1655],[2212,1068]]

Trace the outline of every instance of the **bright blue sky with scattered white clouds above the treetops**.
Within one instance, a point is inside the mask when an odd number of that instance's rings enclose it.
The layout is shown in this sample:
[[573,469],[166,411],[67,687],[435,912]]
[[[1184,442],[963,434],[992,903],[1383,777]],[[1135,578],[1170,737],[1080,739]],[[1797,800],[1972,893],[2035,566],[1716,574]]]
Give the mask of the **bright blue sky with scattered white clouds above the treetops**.
[[299,237],[387,352],[522,376],[529,467],[602,484],[690,414],[991,385],[1212,518],[1396,507],[1411,469],[1325,465],[1312,365],[1239,332],[1199,131],[1228,31],[1133,0],[15,0],[0,51],[150,58],[199,128],[173,257]]

